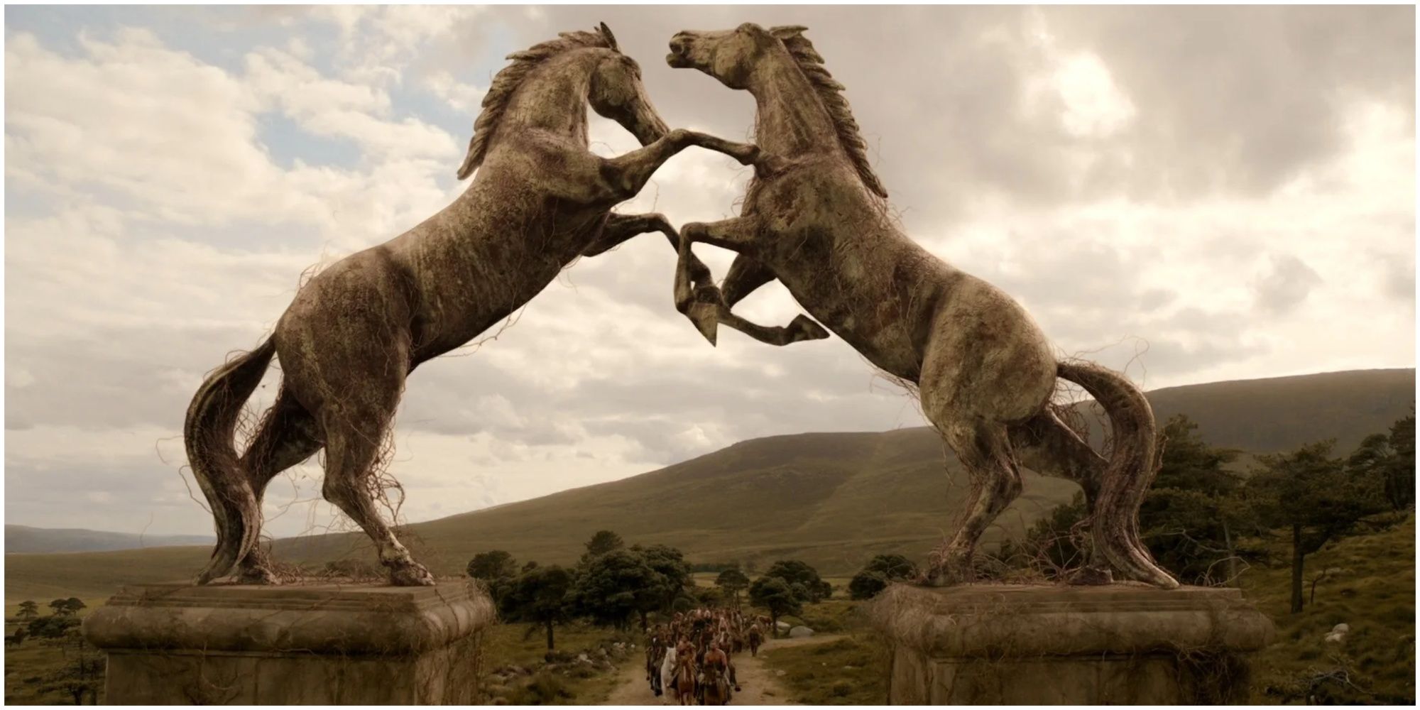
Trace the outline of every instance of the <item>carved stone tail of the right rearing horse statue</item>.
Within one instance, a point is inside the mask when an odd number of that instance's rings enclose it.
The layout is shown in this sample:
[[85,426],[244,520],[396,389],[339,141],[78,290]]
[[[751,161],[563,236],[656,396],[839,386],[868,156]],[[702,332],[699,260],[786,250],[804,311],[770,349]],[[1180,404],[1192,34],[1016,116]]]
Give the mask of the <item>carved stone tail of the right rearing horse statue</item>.
[[1095,504],[1095,544],[1130,579],[1164,589],[1179,581],[1154,564],[1139,540],[1139,506],[1159,471],[1153,408],[1123,375],[1093,362],[1061,362],[1058,373],[1089,392],[1109,415],[1113,453]]

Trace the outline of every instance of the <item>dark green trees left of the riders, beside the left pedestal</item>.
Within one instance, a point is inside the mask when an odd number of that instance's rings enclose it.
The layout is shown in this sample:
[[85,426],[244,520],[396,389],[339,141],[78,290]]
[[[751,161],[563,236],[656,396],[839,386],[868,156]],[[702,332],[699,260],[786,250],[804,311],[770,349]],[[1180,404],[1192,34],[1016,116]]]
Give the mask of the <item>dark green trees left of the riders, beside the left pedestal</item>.
[[577,567],[528,562],[520,568],[511,554],[493,550],[469,562],[469,577],[484,582],[504,619],[542,625],[548,650],[558,623],[585,616],[625,630],[639,619],[645,629],[652,612],[669,612],[693,585],[679,550],[626,547],[609,530],[592,535]]

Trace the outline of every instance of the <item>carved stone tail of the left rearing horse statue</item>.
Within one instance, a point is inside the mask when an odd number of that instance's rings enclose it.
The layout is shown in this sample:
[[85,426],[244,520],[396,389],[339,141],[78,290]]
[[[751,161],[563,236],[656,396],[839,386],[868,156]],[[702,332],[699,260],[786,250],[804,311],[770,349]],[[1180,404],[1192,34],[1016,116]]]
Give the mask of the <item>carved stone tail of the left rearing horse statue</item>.
[[257,544],[261,510],[233,439],[241,406],[261,383],[274,354],[275,342],[267,338],[257,349],[217,368],[187,406],[183,423],[187,463],[217,523],[217,547],[197,574],[197,584],[227,574]]

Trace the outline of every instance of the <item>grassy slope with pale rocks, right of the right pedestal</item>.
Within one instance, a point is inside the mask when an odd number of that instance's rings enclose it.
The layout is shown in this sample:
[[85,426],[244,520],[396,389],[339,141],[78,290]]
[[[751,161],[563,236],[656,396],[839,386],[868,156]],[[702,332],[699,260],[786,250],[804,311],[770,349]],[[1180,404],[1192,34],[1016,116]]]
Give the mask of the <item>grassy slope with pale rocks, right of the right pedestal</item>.
[[[1287,559],[1279,547],[1279,558]],[[1242,575],[1248,599],[1277,623],[1277,643],[1254,657],[1258,703],[1301,701],[1314,694],[1331,703],[1414,704],[1416,699],[1416,523],[1414,515],[1383,532],[1343,538],[1308,555],[1309,582],[1329,568],[1333,581],[1316,586],[1316,599],[1289,613],[1291,568],[1252,568]],[[1326,642],[1338,623],[1350,626],[1342,643]],[[1323,674],[1339,679],[1312,687]]]

